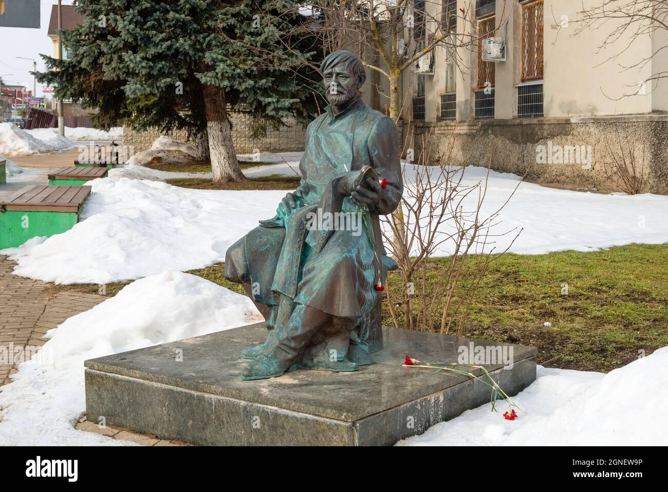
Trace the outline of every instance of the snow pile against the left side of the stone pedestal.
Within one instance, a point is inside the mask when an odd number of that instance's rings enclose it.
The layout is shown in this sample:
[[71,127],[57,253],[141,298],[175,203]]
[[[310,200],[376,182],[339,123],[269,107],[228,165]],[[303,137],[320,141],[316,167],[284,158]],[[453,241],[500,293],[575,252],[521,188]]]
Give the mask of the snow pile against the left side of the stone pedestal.
[[0,392],[3,445],[122,445],[73,428],[86,408],[83,361],[253,322],[250,299],[194,275],[166,271],[138,280],[55,330]]

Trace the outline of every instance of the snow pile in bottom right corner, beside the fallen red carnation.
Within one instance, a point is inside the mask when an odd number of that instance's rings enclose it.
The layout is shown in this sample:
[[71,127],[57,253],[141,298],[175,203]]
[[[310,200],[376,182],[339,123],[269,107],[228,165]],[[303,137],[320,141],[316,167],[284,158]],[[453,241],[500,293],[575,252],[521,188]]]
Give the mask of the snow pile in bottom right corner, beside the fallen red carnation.
[[668,347],[609,374],[539,366],[536,382],[513,398],[526,416],[504,420],[505,410],[485,404],[398,444],[665,446],[667,366]]

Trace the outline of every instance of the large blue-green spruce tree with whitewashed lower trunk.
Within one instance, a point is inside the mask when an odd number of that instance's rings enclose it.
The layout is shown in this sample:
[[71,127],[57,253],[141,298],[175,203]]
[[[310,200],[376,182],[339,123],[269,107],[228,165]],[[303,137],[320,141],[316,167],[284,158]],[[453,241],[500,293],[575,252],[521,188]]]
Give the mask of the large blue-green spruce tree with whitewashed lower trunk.
[[321,47],[292,39],[305,18],[291,1],[79,0],[75,9],[86,19],[62,33],[72,57],[44,56],[39,80],[98,108],[100,126],[186,129],[196,143],[208,134],[214,182],[244,179],[229,108],[251,114],[256,135],[317,114],[319,75],[304,60],[317,63]]

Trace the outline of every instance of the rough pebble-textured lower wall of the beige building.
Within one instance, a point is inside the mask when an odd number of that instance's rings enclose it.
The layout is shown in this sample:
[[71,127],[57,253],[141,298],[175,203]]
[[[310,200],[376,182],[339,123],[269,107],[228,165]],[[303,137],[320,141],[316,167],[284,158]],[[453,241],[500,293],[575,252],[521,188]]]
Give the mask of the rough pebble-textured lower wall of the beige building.
[[[415,155],[420,155],[422,142],[426,142],[432,164],[480,166],[487,165],[492,156],[494,170],[526,174],[529,180],[543,183],[601,191],[623,191],[615,183],[611,162],[621,156],[618,137],[625,148],[628,138],[637,166],[643,168],[645,191],[668,193],[668,115],[416,122],[413,131]],[[552,152],[558,146],[577,146],[583,150],[582,158],[537,162],[540,146]],[[591,167],[585,157],[589,155]]]

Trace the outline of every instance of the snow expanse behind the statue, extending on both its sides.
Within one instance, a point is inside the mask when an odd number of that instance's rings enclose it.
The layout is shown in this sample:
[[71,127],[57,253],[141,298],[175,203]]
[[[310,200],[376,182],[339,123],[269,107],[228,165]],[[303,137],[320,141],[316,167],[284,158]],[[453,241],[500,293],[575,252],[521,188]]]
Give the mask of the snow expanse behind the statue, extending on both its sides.
[[[254,169],[274,166],[285,164]],[[128,173],[141,179],[120,177]],[[486,168],[469,166],[464,183],[484,180],[486,173]],[[159,181],[169,175],[174,173],[140,166],[115,169],[110,178],[91,183],[94,193],[83,207],[82,220],[70,231],[45,241],[33,239],[3,254],[17,261],[17,275],[57,283],[105,283],[166,269],[206,267],[223,261],[227,247],[259,220],[273,217],[285,196],[284,191],[184,189]],[[410,166],[406,176],[411,186]],[[490,172],[483,215],[501,207],[519,180],[515,174]],[[477,193],[470,200],[477,202]],[[665,243],[667,216],[668,197],[663,195],[602,195],[523,182],[496,219],[492,234],[523,228],[510,247],[512,253],[593,251]],[[513,238],[514,234],[496,237],[486,249],[502,251]],[[81,247],[91,241],[95,248]],[[449,254],[450,248],[444,243],[437,255]]]

